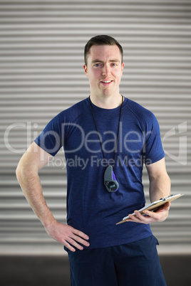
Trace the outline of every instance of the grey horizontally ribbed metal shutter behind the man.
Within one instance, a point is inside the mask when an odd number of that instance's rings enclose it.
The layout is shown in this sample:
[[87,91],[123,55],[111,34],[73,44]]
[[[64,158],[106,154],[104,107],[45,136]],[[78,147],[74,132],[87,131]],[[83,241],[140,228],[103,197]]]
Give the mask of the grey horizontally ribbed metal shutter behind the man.
[[[152,225],[160,252],[191,252],[191,1],[0,1],[0,253],[62,253],[16,181],[21,154],[52,117],[88,97],[83,47],[109,34],[124,49],[120,92],[153,111],[172,194],[167,221]],[[167,133],[168,132],[168,133]],[[63,152],[41,171],[48,206],[66,220]],[[143,181],[148,201],[148,179]]]

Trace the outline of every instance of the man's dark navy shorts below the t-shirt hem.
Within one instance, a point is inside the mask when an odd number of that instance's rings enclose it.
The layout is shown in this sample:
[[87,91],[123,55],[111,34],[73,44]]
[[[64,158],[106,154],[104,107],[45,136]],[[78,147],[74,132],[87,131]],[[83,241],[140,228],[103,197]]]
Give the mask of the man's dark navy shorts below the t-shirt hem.
[[157,244],[151,235],[108,248],[67,250],[71,286],[165,286]]

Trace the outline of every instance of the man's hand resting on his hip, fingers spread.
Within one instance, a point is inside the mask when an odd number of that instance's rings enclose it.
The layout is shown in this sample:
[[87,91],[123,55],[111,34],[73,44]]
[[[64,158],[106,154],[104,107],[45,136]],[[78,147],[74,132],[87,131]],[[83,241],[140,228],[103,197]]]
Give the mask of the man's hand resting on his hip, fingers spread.
[[72,226],[68,226],[63,223],[59,223],[58,221],[54,221],[51,223],[51,226],[45,227],[46,232],[51,238],[57,240],[59,243],[62,243],[71,251],[76,251],[71,245],[75,246],[79,250],[83,250],[83,246],[78,244],[81,243],[83,245],[89,246],[88,243],[88,235],[83,233],[82,231],[78,231],[76,228]]

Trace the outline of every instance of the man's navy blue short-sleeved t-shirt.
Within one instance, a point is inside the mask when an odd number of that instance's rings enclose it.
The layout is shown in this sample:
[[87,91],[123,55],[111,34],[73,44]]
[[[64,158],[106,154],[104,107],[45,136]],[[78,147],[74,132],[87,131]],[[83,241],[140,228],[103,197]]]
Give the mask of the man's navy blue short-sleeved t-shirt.
[[152,235],[149,225],[115,223],[145,205],[143,164],[152,164],[165,156],[158,121],[152,112],[125,98],[113,166],[119,189],[110,193],[105,189],[103,176],[108,164],[113,165],[120,107],[92,107],[105,159],[88,98],[54,117],[35,139],[53,156],[64,147],[67,223],[90,237],[89,248],[147,238]]

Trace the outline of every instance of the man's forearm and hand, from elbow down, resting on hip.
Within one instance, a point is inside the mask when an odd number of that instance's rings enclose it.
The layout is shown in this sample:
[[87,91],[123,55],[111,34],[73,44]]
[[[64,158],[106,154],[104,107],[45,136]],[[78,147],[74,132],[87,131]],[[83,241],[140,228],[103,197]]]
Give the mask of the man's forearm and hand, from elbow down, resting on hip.
[[43,197],[38,171],[27,171],[23,166],[19,166],[16,170],[16,176],[27,201],[51,238],[63,243],[71,251],[76,251],[74,247],[83,250],[82,245],[89,246],[88,241],[86,241],[89,239],[88,235],[71,226],[58,223],[53,217]]

